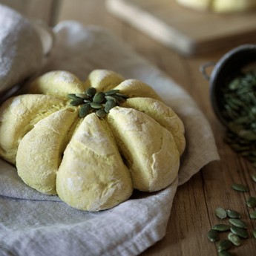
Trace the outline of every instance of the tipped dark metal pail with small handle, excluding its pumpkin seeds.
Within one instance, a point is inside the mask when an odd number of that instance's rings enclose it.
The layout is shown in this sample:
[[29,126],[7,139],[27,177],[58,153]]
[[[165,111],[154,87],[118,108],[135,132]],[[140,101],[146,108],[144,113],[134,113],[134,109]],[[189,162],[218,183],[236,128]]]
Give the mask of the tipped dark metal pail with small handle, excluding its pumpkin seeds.
[[241,45],[230,50],[228,53],[214,65],[211,76],[206,73],[206,68],[213,65],[212,62],[206,63],[200,67],[203,75],[209,79],[211,105],[214,113],[223,125],[227,125],[225,116],[223,116],[222,88],[225,87],[240,71],[246,66],[256,63],[256,45]]

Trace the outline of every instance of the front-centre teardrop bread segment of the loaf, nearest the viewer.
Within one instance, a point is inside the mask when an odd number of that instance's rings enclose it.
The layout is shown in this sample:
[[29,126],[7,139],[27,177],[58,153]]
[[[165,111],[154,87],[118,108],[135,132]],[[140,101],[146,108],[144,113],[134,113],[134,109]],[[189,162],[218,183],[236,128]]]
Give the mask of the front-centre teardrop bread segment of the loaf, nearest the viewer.
[[56,188],[64,202],[87,211],[109,209],[131,196],[131,174],[108,125],[96,114],[85,116],[70,140]]

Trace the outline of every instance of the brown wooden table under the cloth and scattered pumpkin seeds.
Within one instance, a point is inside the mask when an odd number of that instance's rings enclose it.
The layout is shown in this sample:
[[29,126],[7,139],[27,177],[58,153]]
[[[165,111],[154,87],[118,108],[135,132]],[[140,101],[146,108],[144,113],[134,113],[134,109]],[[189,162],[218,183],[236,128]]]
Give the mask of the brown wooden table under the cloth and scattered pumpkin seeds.
[[[256,183],[250,177],[256,170],[223,142],[224,128],[211,108],[209,82],[199,71],[200,65],[217,61],[226,51],[201,56],[182,56],[111,16],[106,11],[103,0],[63,0],[56,22],[67,19],[108,27],[137,53],[168,73],[197,102],[209,120],[216,139],[221,160],[206,165],[177,189],[166,236],[142,255],[217,255],[216,244],[209,242],[206,237],[211,226],[221,222],[214,215],[217,206],[239,211],[249,226],[250,238],[242,240],[243,244],[240,247],[233,246],[230,252],[237,256],[255,255],[256,239],[252,237],[252,229],[256,229],[256,220],[249,218],[245,200],[249,195],[256,196]],[[233,183],[248,185],[250,192],[243,194],[234,191],[231,188]],[[223,237],[225,236],[226,234],[223,234]]]

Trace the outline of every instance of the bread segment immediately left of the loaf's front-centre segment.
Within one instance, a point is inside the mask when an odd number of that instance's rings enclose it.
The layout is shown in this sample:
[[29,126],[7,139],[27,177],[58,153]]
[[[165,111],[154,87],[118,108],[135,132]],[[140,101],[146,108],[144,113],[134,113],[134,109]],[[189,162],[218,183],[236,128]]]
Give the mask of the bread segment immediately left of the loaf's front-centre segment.
[[56,194],[56,171],[67,143],[68,131],[78,118],[75,108],[56,111],[39,121],[22,138],[16,166],[24,183],[44,194]]

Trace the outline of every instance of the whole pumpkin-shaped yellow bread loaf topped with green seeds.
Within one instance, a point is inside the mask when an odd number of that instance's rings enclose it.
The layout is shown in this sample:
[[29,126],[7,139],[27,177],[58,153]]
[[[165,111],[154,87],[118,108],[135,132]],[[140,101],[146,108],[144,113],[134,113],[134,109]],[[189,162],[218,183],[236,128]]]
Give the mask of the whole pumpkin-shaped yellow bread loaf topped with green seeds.
[[183,122],[145,83],[111,70],[82,82],[57,70],[27,91],[0,108],[0,155],[27,186],[99,211],[176,179]]

